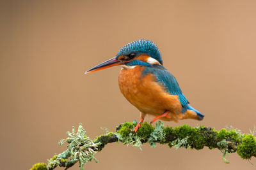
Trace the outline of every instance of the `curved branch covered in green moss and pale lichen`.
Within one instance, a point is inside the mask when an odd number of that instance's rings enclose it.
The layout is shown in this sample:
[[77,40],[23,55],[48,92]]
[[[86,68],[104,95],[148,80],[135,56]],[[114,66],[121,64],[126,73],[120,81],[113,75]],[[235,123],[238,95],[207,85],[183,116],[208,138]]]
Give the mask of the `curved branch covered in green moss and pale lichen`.
[[162,122],[157,122],[156,127],[152,127],[147,122],[143,123],[136,133],[132,131],[137,122],[126,122],[116,127],[116,132],[105,133],[92,140],[86,136],[83,126],[80,124],[77,132],[73,127],[72,132],[67,132],[68,138],[62,139],[60,145],[68,143],[67,150],[59,155],[54,155],[48,160],[48,164],[37,163],[31,170],[54,169],[57,166],[69,167],[79,162],[79,167],[84,169],[86,162],[98,160],[94,157],[96,152],[100,152],[105,145],[113,142],[122,142],[125,145],[136,146],[141,149],[143,143],[149,143],[156,147],[156,143],[167,144],[170,148],[195,148],[201,150],[205,146],[209,149],[218,148],[225,155],[237,152],[242,159],[256,157],[255,131],[250,134],[242,134],[238,129],[232,127],[216,131],[211,127],[190,127],[182,125],[180,127],[164,127]]

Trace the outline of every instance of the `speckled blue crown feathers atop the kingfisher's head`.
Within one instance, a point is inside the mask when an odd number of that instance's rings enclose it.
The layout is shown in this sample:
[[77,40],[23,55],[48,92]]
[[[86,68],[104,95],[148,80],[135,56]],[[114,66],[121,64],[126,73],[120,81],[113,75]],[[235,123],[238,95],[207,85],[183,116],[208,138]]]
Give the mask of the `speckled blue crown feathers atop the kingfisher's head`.
[[116,54],[116,57],[121,55],[129,55],[129,53],[132,52],[136,52],[137,54],[148,53],[152,58],[163,64],[161,53],[153,41],[140,39],[138,41],[128,43],[119,50],[119,52]]

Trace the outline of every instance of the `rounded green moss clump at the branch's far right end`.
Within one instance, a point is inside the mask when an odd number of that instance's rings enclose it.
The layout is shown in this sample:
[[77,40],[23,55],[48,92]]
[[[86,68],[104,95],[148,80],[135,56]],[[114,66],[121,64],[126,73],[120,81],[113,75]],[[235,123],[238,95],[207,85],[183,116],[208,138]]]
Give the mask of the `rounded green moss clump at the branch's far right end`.
[[241,145],[237,148],[237,153],[242,159],[251,159],[256,155],[256,139],[252,134],[244,134]]

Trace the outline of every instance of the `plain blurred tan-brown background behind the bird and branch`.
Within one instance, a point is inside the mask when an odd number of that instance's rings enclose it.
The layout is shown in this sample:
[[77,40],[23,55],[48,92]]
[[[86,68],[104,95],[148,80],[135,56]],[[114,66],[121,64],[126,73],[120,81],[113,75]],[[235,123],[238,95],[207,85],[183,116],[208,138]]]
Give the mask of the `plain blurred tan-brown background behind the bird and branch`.
[[[47,162],[72,126],[91,139],[140,113],[118,88],[120,67],[86,74],[126,43],[154,41],[201,122],[220,130],[255,125],[256,1],[1,1],[1,169]],[[147,117],[149,121],[152,117]],[[219,150],[143,151],[121,143],[95,155],[86,169],[255,169]],[[256,164],[256,159],[251,160]],[[60,169],[60,168],[59,168]],[[78,164],[71,169],[79,169]]]

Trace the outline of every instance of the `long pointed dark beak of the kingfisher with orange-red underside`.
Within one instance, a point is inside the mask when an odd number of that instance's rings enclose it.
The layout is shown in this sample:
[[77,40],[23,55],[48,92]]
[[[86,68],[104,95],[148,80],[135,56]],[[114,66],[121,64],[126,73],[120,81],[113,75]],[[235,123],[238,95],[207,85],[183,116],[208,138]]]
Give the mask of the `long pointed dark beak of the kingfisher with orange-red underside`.
[[101,64],[99,64],[95,67],[92,67],[91,69],[86,71],[84,74],[92,73],[94,71],[99,71],[100,69],[106,69],[108,67],[118,66],[121,64],[124,64],[124,62],[122,62],[120,60],[116,60],[116,57],[113,57],[110,60],[106,60],[105,62],[102,62]]

